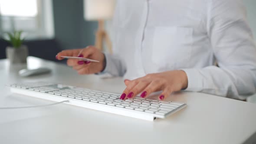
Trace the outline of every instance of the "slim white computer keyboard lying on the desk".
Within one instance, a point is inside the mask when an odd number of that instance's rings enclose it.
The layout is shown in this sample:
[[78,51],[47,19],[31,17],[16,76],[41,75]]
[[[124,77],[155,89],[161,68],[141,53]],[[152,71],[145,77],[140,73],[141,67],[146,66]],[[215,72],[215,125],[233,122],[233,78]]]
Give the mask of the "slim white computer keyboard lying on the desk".
[[105,111],[113,114],[154,121],[166,118],[186,107],[182,102],[158,101],[156,98],[120,100],[120,94],[90,90],[70,85],[46,82],[12,84],[11,92],[50,101],[65,101],[69,105]]

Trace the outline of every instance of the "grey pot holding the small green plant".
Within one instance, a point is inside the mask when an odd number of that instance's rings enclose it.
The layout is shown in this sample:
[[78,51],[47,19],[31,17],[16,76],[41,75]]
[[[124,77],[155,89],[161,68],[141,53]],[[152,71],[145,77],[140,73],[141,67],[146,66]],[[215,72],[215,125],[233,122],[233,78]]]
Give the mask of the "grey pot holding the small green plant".
[[27,46],[20,46],[16,49],[8,46],[6,48],[6,56],[9,59],[10,63],[26,63],[26,58],[29,55]]

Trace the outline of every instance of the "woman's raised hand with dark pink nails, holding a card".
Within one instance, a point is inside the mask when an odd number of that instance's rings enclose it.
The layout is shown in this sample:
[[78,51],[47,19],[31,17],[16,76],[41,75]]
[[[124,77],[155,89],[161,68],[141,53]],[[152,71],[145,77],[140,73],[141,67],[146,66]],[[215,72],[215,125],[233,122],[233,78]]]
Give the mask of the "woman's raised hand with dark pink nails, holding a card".
[[[79,55],[79,52],[82,53]],[[79,56],[78,56],[79,55]],[[87,46],[84,49],[68,49],[59,52],[56,59],[62,60],[61,56],[76,56],[98,60],[99,62],[88,62],[79,59],[68,59],[67,65],[72,66],[80,75],[102,72],[105,69],[105,55],[94,46]]]

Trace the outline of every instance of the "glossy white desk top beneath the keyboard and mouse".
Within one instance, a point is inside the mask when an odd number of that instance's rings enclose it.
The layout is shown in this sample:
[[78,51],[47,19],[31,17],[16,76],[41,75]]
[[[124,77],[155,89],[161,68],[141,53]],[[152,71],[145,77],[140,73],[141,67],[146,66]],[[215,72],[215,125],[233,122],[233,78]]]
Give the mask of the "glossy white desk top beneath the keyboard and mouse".
[[[30,78],[17,75],[23,66],[0,60],[0,107],[52,103],[11,94],[6,83],[39,80],[66,83],[121,93],[121,78],[100,79],[77,75],[71,68],[30,57],[28,67],[46,66],[51,74]],[[167,119],[143,121],[79,108],[55,105],[45,108],[0,110],[1,144],[240,144],[256,141],[256,104],[214,95],[184,92],[174,96],[187,108]]]

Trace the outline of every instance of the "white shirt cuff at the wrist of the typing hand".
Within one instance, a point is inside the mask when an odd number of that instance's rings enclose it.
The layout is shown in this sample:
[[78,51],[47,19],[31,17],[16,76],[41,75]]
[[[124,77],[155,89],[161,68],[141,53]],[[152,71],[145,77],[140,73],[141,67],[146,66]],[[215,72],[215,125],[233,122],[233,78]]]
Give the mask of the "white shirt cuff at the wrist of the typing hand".
[[185,91],[200,92],[203,89],[202,75],[198,69],[181,69],[187,74],[187,88]]

